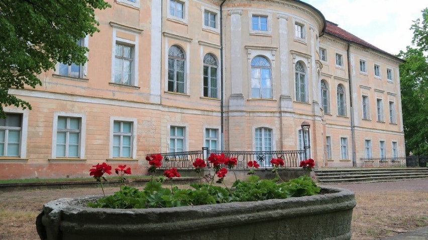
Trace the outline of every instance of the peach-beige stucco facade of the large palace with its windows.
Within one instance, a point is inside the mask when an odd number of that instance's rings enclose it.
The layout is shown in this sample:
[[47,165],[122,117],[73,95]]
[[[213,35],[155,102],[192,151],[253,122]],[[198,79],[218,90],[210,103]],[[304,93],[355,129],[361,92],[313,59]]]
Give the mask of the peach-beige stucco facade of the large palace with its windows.
[[[21,126],[5,127],[20,139],[19,151],[9,152],[14,156],[0,153],[1,178],[88,176],[105,161],[146,174],[147,154],[206,143],[231,151],[297,150],[303,121],[318,167],[361,166],[367,141],[371,157],[381,157],[380,141],[383,157],[405,155],[401,60],[329,33],[332,23],[313,7],[285,0],[109,2],[112,8],[96,12],[100,32],[82,41],[89,61],[78,76],[60,73],[58,64],[39,76],[42,86],[10,90],[33,109],[5,107]],[[130,55],[119,56],[118,46]],[[62,121],[79,127],[63,129]],[[125,125],[130,129],[116,129]]]

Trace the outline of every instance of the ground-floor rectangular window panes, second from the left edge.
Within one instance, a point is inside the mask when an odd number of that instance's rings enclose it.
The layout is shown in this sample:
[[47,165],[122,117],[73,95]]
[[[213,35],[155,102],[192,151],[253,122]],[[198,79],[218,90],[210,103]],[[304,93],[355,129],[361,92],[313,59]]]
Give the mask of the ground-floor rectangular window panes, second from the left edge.
[[79,157],[80,130],[80,117],[58,116],[56,134],[56,157]]

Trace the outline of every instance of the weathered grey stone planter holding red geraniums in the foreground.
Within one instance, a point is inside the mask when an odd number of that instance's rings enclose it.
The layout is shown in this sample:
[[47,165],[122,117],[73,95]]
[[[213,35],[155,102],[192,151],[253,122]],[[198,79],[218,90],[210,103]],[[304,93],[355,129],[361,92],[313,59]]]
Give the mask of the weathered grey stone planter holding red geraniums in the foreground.
[[354,193],[150,209],[85,207],[99,196],[51,201],[37,217],[41,239],[350,239]]

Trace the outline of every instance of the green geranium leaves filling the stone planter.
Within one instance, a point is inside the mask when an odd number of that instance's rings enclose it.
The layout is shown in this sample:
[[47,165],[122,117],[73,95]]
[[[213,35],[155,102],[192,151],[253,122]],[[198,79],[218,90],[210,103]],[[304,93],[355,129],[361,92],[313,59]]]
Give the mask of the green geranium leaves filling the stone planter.
[[193,189],[172,191],[163,188],[160,182],[150,181],[143,191],[125,186],[122,193],[100,198],[88,203],[90,207],[103,208],[153,208],[194,206],[226,202],[262,201],[284,199],[317,194],[320,190],[308,176],[301,176],[289,182],[276,183],[276,180],[257,180],[244,182],[237,180],[233,190],[208,184],[190,184]]

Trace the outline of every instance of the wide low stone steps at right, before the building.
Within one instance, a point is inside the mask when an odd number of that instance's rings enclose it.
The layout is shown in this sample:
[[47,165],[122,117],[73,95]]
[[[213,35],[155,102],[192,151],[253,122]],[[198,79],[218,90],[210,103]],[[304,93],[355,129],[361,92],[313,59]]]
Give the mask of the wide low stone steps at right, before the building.
[[322,184],[387,182],[428,178],[428,168],[322,168],[314,172],[317,181]]

